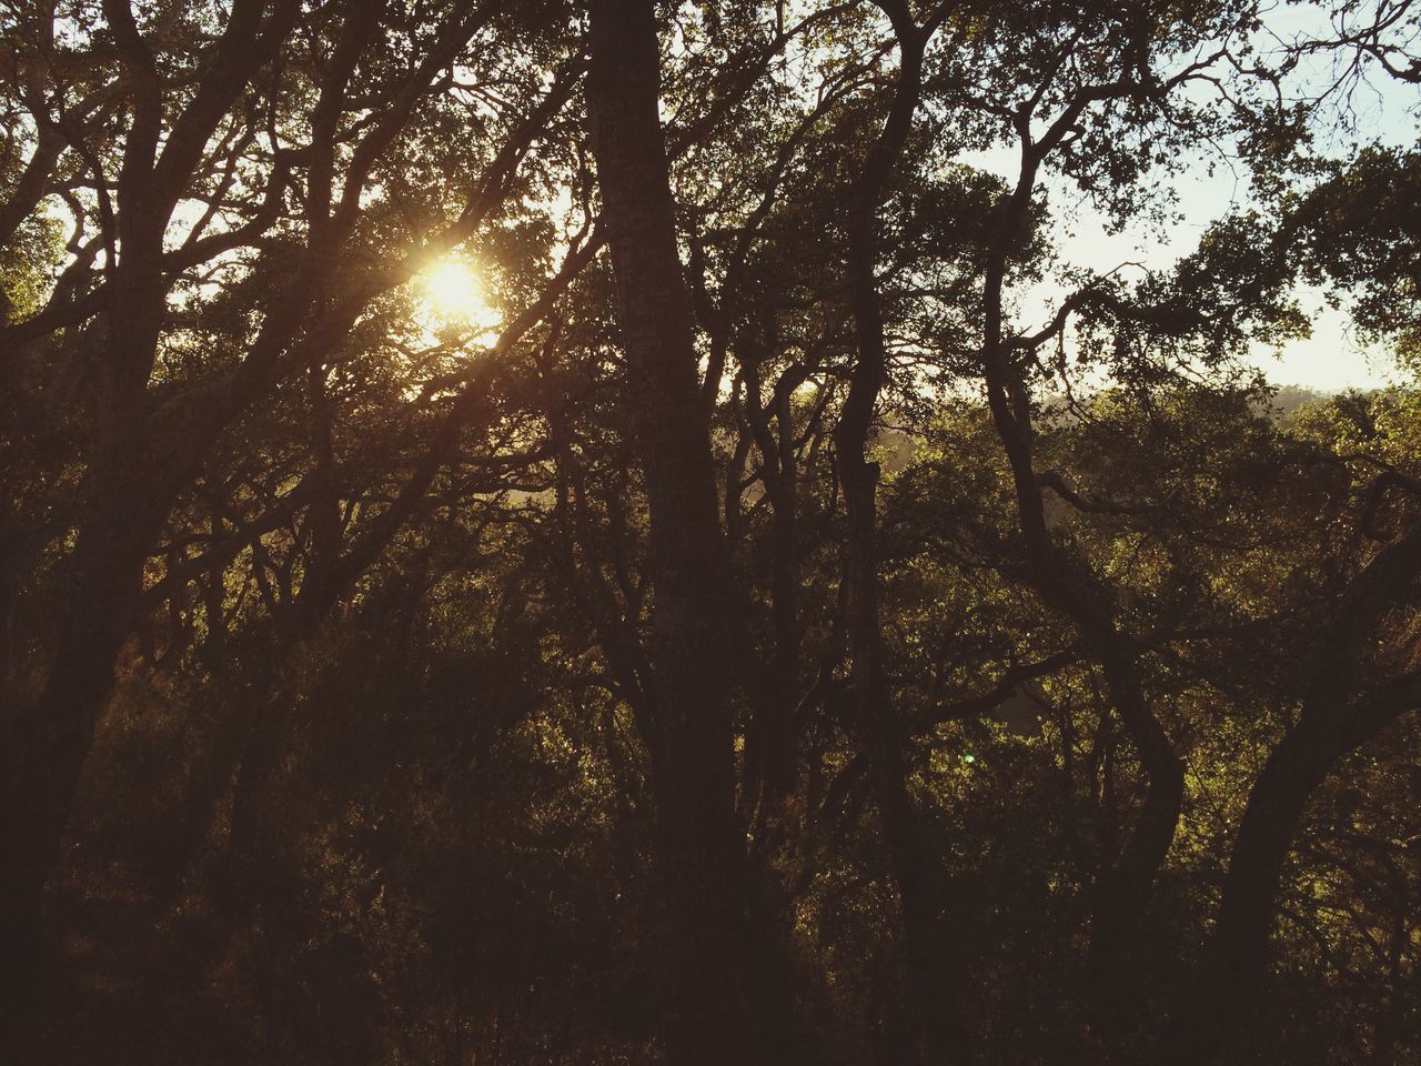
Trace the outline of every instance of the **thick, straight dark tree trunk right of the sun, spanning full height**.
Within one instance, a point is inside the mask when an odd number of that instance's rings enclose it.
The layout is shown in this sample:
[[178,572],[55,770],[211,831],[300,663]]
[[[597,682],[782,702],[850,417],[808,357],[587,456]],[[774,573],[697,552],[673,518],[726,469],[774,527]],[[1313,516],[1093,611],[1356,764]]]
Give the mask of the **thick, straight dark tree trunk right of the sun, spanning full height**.
[[651,512],[652,790],[671,893],[666,1052],[777,1062],[749,998],[745,839],[735,816],[730,563],[676,252],[649,0],[591,6],[588,108]]

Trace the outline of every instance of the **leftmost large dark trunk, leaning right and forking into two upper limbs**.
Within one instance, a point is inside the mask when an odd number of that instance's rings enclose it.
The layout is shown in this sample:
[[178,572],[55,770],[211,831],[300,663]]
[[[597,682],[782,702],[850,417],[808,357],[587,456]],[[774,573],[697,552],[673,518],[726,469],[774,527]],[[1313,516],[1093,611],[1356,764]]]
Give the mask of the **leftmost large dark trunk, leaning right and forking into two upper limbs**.
[[148,382],[166,311],[163,236],[207,136],[284,37],[298,6],[273,11],[259,45],[266,4],[233,4],[213,61],[166,139],[162,81],[149,45],[126,3],[104,7],[132,109],[117,182],[121,252],[109,280],[104,350],[95,360],[92,459],[70,559],[70,600],[44,692],[7,738],[14,766],[0,796],[0,951],[7,955],[0,994],[17,1012],[26,1011],[38,978],[45,881],[114,687],[115,658],[135,623],[144,560],[176,493],[173,472],[185,461],[159,455],[148,422]]

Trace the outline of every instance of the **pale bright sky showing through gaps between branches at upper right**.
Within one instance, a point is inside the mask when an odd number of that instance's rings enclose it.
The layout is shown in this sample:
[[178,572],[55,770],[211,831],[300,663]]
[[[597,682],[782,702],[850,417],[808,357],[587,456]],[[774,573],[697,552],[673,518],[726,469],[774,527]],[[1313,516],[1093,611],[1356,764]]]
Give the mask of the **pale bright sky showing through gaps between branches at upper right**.
[[[1326,37],[1329,21],[1320,6],[1279,6],[1269,13],[1265,31],[1256,43],[1260,50],[1276,48],[1279,41]],[[1339,71],[1333,58],[1316,58],[1295,72],[1289,85],[1296,94],[1316,94],[1330,85]],[[1373,77],[1347,99],[1347,129],[1329,125],[1336,117],[1336,102],[1317,112],[1319,149],[1344,154],[1350,145],[1380,142],[1407,145],[1417,141],[1418,98],[1415,87],[1387,77]],[[1331,131],[1331,132],[1326,132]],[[1019,155],[1015,146],[978,152],[962,162],[1015,181]],[[1110,220],[1059,175],[1043,175],[1052,215],[1057,226],[1056,247],[1064,264],[1097,274],[1120,271],[1127,280],[1145,270],[1168,270],[1182,256],[1198,247],[1199,237],[1218,219],[1249,206],[1253,199],[1248,168],[1229,158],[1228,149],[1201,151],[1182,161],[1181,171],[1167,188],[1174,205],[1161,225],[1135,220],[1115,230]],[[1056,281],[1044,281],[1016,294],[1017,314],[1027,330],[1044,324],[1066,296]],[[1277,385],[1300,385],[1322,392],[1347,388],[1378,388],[1397,379],[1390,352],[1378,344],[1366,344],[1351,325],[1346,310],[1331,307],[1327,293],[1302,287],[1299,306],[1312,320],[1312,335],[1280,347],[1256,343],[1245,362],[1260,370]]]

